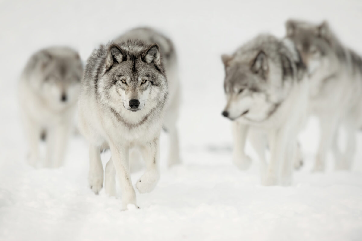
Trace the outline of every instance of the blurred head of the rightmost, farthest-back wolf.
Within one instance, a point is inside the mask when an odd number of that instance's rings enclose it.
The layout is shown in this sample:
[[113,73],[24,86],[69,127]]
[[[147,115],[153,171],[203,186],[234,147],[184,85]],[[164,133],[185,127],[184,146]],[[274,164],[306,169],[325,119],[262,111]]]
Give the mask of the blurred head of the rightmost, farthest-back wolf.
[[344,50],[325,21],[313,25],[289,20],[286,32],[300,52],[310,76],[321,70],[336,68],[338,58],[344,58]]

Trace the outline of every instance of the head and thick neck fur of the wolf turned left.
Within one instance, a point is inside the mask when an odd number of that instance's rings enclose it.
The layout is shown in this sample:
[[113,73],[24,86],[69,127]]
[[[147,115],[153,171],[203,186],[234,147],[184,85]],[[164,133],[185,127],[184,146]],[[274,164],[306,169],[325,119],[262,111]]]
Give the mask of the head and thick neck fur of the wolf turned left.
[[227,99],[223,116],[258,122],[268,119],[291,87],[292,54],[273,36],[261,35],[232,56],[222,55],[222,60]]

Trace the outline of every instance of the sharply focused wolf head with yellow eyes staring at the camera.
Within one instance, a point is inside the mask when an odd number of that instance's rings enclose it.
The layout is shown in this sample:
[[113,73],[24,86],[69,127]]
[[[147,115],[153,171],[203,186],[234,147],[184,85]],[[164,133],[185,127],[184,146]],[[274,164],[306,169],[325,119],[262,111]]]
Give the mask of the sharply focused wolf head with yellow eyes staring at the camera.
[[101,68],[104,74],[97,89],[104,102],[131,112],[164,104],[167,81],[157,44],[110,44]]

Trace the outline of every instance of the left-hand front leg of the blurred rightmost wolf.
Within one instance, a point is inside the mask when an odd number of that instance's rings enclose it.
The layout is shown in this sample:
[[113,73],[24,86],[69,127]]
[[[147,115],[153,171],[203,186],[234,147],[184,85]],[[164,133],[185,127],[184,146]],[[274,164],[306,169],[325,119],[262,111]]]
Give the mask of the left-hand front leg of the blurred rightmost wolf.
[[338,129],[338,120],[331,115],[321,116],[320,121],[320,141],[315,159],[313,171],[321,172],[325,169],[325,159],[328,150],[332,146],[333,137],[336,135]]

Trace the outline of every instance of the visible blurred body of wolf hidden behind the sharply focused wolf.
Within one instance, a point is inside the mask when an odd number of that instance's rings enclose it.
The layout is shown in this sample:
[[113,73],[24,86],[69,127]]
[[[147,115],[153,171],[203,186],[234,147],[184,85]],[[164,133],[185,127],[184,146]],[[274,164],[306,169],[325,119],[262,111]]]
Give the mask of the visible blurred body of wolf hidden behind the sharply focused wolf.
[[[127,40],[142,40],[146,44],[157,43],[160,46],[168,81],[168,102],[166,104],[163,122],[163,129],[169,136],[168,165],[172,166],[174,164],[179,164],[181,161],[176,122],[180,106],[180,83],[178,79],[177,56],[173,43],[163,34],[146,27],[132,29],[119,36],[114,42],[119,43]],[[134,165],[136,161],[137,160],[133,160],[131,166]]]

